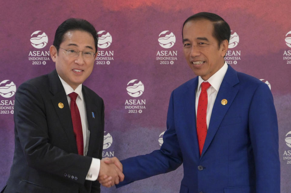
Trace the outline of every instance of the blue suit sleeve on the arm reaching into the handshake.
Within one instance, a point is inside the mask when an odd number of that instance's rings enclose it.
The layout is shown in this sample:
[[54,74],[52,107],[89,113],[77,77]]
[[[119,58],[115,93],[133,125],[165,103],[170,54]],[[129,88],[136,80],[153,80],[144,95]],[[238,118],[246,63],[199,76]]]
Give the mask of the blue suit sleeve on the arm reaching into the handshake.
[[177,169],[182,164],[182,153],[178,143],[174,121],[173,92],[169,102],[167,115],[167,130],[163,135],[160,150],[152,153],[122,160],[125,179],[116,185],[117,188],[136,180],[167,173]]

